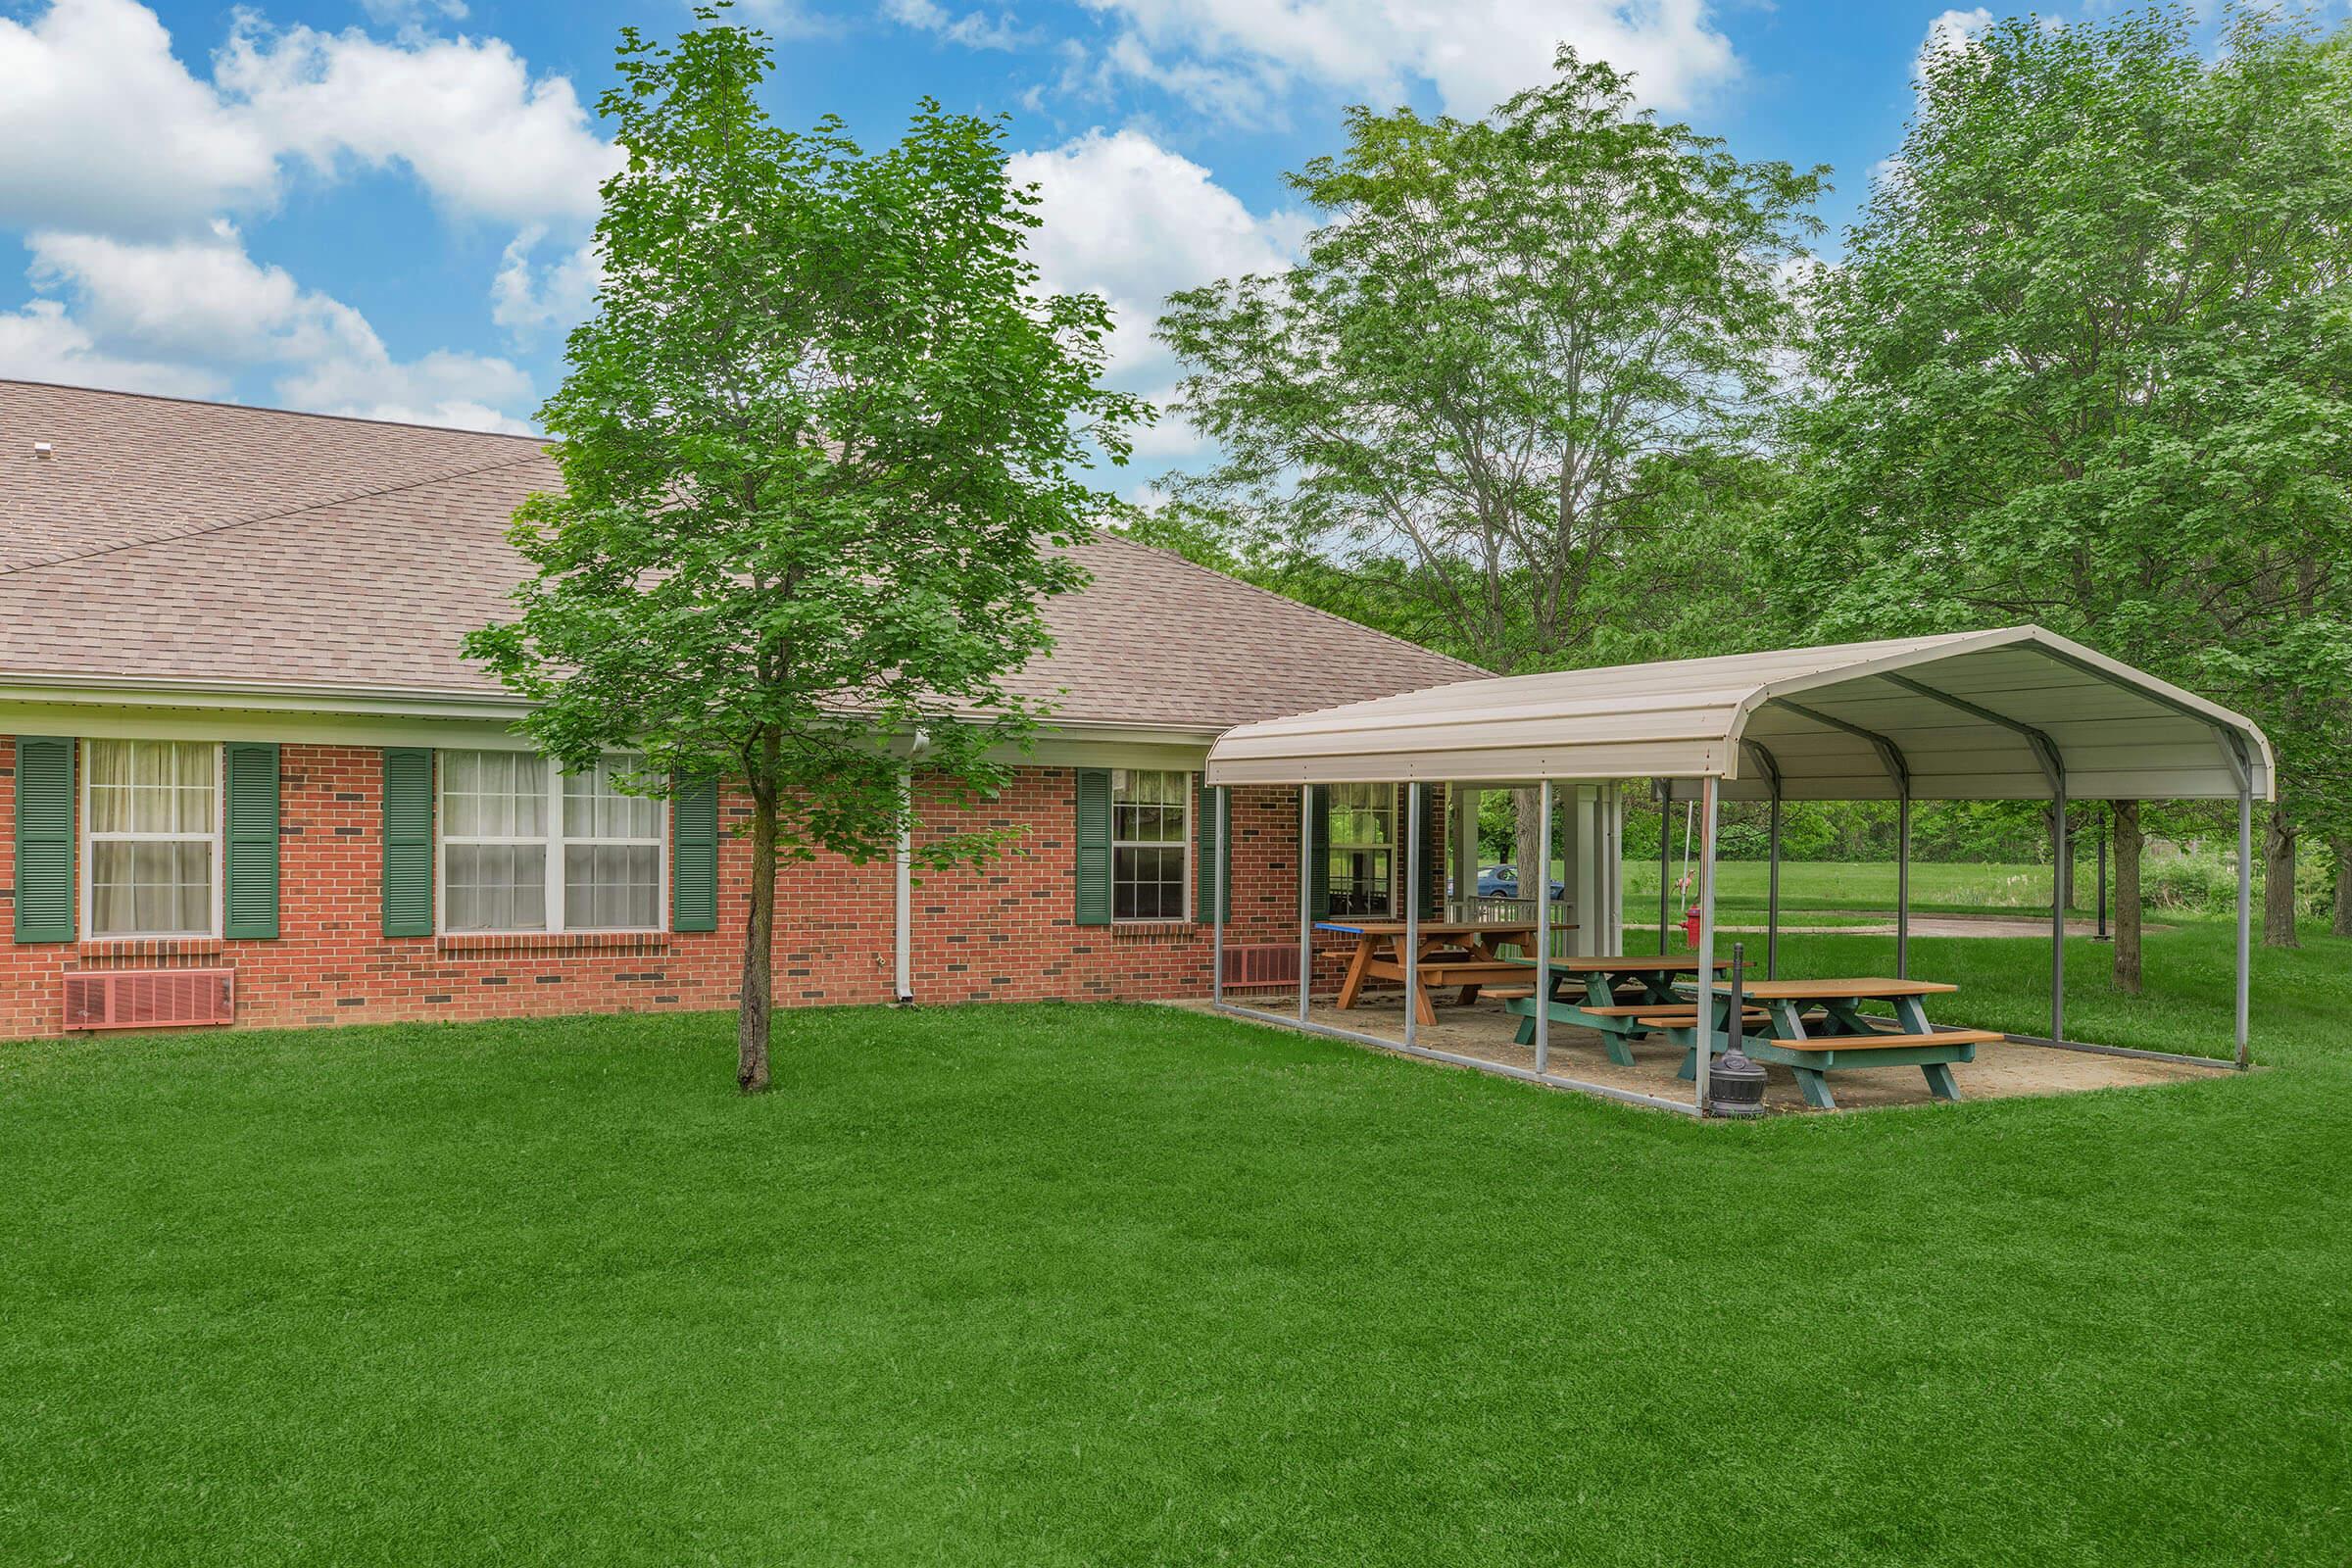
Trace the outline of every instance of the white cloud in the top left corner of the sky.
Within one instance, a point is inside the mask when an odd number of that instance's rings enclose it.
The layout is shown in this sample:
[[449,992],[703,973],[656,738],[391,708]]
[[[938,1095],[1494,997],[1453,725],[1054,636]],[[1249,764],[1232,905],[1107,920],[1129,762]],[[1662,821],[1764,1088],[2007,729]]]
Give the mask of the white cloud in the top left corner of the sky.
[[56,0],[0,16],[0,214],[162,233],[268,202],[278,148],[188,75],[155,12]]

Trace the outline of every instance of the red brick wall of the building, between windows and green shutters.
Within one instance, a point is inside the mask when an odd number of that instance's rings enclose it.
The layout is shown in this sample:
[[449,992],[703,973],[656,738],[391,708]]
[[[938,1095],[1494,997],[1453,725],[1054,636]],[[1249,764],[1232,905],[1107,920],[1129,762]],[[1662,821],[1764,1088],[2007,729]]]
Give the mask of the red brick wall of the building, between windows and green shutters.
[[[0,870],[14,879],[14,741],[0,736]],[[92,969],[228,966],[240,1025],[520,1018],[724,1009],[736,1001],[748,846],[720,846],[720,931],[652,938],[386,938],[376,748],[282,748],[280,936],[268,943],[7,943],[0,891],[0,1039],[56,1034],[61,976]],[[941,820],[1016,825],[1002,860],[915,886],[915,999],[1157,999],[1209,990],[1209,929],[1075,926],[1070,769],[1023,769],[1004,797]],[[741,802],[722,806],[739,823]],[[1298,931],[1298,797],[1237,790],[1228,943]],[[87,865],[78,863],[87,872]],[[889,1001],[894,867],[788,865],[779,884],[779,1006]],[[1331,983],[1324,950],[1319,983]]]

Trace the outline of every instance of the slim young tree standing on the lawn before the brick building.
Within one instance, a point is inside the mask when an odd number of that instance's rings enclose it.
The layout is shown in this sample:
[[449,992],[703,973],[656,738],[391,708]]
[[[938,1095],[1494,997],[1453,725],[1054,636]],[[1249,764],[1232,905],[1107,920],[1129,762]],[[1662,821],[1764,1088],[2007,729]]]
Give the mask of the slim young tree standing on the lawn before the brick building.
[[[696,16],[675,47],[621,35],[604,282],[541,409],[564,489],[517,512],[536,576],[468,651],[562,762],[635,748],[640,790],[750,797],[750,1093],[779,863],[884,856],[927,802],[1002,783],[993,748],[1037,719],[1004,675],[1047,646],[1042,597],[1080,583],[1056,545],[1101,501],[1087,442],[1122,458],[1138,409],[1096,388],[1105,306],[1037,294],[995,125],[922,103],[884,153],[781,129],[764,35]],[[917,837],[931,867],[995,849]]]

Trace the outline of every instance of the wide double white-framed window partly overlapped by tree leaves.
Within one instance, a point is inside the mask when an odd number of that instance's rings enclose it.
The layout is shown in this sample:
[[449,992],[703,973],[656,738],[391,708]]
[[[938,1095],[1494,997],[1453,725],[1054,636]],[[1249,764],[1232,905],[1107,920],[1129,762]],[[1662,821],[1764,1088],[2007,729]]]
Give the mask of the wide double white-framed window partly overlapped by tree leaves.
[[640,757],[564,773],[532,752],[440,755],[440,929],[661,931],[668,809],[621,795]]

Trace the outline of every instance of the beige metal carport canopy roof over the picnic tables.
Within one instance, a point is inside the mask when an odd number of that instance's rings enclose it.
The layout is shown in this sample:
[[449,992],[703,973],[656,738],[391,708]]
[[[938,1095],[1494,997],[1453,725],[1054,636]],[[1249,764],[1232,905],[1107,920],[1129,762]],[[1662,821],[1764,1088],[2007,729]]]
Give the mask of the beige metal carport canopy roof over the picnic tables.
[[[2244,769],[2244,778],[2239,776]],[[1225,731],[1211,785],[1719,778],[1733,799],[2272,795],[2244,715],[2039,625],[1430,686]]]

